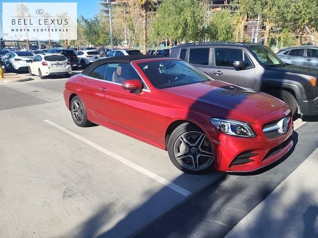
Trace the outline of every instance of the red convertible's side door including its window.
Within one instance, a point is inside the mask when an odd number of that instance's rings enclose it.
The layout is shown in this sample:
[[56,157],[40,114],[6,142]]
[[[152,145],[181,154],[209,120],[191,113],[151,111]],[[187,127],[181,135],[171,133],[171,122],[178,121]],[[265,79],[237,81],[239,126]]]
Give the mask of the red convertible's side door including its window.
[[97,86],[98,113],[108,123],[149,138],[151,92],[148,88],[140,93],[124,90],[122,82],[130,79],[142,81],[131,64],[107,65],[104,80],[100,80]]

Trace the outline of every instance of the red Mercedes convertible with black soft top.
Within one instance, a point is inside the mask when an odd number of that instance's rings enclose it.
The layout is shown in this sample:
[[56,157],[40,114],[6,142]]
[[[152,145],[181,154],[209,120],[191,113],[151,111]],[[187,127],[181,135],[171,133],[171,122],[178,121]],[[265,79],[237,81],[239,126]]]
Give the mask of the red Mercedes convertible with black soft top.
[[78,126],[96,123],[167,150],[185,173],[254,171],[293,145],[284,102],[214,80],[183,60],[98,60],[66,82],[64,99]]

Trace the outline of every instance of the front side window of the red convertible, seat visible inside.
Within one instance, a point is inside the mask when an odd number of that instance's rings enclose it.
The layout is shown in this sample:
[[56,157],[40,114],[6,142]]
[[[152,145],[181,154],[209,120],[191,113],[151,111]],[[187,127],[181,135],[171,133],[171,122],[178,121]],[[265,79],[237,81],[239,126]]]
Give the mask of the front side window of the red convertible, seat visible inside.
[[120,84],[131,79],[142,81],[136,70],[129,63],[109,63],[105,77],[107,81]]

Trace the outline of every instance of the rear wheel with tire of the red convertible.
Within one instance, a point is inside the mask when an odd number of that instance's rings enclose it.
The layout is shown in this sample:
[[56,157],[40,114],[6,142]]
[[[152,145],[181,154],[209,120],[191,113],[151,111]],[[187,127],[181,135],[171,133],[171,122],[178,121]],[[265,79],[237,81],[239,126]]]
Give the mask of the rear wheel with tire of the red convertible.
[[72,98],[71,101],[71,115],[72,119],[74,120],[75,124],[77,124],[80,127],[86,127],[92,124],[87,119],[87,113],[85,106],[79,96],[75,96]]

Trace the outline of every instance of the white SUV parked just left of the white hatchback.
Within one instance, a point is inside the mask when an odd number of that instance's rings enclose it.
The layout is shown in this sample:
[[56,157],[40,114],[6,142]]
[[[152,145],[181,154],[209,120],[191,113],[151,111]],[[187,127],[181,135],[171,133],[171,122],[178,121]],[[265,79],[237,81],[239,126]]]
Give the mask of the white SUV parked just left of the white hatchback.
[[19,72],[28,70],[28,60],[33,58],[30,51],[12,51],[4,62],[5,71]]

